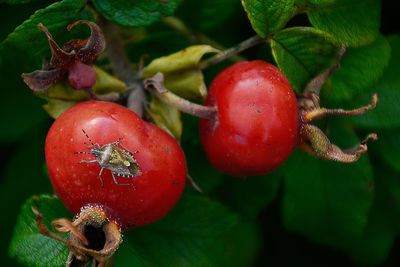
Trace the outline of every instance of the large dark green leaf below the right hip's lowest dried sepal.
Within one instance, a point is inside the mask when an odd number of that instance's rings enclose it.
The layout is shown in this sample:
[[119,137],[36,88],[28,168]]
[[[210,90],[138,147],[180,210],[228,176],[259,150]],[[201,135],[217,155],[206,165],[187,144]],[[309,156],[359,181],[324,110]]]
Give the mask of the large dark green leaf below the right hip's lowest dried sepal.
[[[359,142],[342,124],[336,122],[329,130],[331,141],[339,147]],[[360,237],[367,226],[373,188],[367,155],[356,163],[343,164],[295,151],[285,168],[284,223],[312,240],[343,247],[348,238]]]

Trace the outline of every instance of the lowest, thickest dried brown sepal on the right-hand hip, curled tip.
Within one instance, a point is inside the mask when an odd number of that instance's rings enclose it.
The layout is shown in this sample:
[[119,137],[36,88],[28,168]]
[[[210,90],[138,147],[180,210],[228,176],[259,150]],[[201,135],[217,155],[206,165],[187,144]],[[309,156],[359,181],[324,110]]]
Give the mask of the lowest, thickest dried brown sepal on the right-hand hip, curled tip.
[[357,161],[361,154],[368,151],[368,140],[378,140],[375,133],[369,134],[355,147],[341,150],[338,146],[331,144],[328,137],[314,125],[304,125],[300,133],[301,142],[299,147],[310,155],[331,161],[352,163]]

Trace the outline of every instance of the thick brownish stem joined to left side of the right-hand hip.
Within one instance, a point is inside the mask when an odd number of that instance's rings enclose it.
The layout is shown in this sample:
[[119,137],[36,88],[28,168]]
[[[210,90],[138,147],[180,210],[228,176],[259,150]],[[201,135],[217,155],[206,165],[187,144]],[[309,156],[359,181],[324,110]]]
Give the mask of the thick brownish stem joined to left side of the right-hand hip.
[[165,104],[177,108],[182,112],[210,120],[214,120],[217,117],[218,110],[216,107],[195,104],[169,92],[164,87],[163,77],[163,74],[158,72],[154,77],[145,79],[145,88],[150,89],[151,93]]

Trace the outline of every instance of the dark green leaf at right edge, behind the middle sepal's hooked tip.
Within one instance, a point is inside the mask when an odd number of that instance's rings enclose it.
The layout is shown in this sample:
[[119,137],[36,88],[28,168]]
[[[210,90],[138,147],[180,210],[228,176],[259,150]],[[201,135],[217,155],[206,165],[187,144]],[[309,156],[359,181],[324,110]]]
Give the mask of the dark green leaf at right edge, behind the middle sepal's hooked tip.
[[[400,36],[388,38],[392,56],[383,76],[373,88],[378,93],[379,102],[374,110],[351,120],[368,129],[394,129],[400,127]],[[352,105],[365,105],[371,101],[370,94],[354,98]]]

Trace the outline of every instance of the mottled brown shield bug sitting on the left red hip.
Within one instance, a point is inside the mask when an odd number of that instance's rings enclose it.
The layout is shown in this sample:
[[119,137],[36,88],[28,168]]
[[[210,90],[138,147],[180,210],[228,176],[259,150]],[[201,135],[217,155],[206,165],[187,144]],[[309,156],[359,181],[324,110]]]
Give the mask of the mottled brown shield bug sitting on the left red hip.
[[100,147],[99,144],[93,143],[85,130],[82,129],[82,132],[86,135],[86,138],[91,143],[90,146],[88,146],[86,143],[84,143],[84,145],[91,150],[90,152],[75,152],[75,154],[91,154],[96,157],[95,160],[82,160],[79,163],[98,163],[100,165],[101,170],[99,177],[101,181],[101,187],[103,187],[103,179],[101,178],[101,174],[103,173],[104,168],[106,168],[111,171],[111,175],[114,178],[115,184],[130,185],[136,189],[133,184],[118,183],[114,174],[125,178],[141,175],[142,171],[139,167],[139,164],[133,157],[133,155],[138,151],[130,152],[120,143],[121,138],[118,138],[118,140],[113,143],[108,143]]

